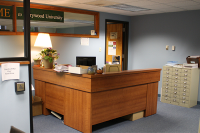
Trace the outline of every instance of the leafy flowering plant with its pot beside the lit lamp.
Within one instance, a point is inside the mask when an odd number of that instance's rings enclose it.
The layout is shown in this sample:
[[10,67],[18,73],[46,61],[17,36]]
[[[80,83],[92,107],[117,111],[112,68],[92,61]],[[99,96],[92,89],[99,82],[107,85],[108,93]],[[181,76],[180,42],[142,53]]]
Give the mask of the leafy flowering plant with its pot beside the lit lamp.
[[54,59],[59,58],[59,53],[57,53],[57,51],[52,48],[43,49],[40,52],[40,55],[42,56],[44,67],[50,69],[53,68]]

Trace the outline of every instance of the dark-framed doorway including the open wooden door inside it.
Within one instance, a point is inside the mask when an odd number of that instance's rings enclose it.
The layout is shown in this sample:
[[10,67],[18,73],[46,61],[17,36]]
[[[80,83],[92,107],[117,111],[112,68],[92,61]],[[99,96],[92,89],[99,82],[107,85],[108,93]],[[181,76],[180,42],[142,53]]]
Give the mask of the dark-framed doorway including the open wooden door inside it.
[[105,64],[112,63],[113,56],[119,57],[121,70],[128,69],[129,22],[105,20]]

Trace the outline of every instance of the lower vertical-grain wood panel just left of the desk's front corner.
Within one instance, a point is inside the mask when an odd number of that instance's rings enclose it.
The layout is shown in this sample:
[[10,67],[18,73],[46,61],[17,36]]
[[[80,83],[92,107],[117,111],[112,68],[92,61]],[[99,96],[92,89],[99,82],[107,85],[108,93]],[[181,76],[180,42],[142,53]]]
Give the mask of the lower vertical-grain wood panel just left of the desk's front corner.
[[65,118],[64,124],[81,132],[91,133],[91,94],[66,88]]

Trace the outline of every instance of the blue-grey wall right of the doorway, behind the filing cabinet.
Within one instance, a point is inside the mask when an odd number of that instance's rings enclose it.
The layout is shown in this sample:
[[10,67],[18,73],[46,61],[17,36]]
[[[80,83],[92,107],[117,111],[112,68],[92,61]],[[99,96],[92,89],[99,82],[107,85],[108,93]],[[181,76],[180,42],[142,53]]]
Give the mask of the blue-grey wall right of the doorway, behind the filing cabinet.
[[162,68],[167,61],[182,64],[187,56],[200,55],[199,16],[200,11],[187,11],[132,17],[129,69]]

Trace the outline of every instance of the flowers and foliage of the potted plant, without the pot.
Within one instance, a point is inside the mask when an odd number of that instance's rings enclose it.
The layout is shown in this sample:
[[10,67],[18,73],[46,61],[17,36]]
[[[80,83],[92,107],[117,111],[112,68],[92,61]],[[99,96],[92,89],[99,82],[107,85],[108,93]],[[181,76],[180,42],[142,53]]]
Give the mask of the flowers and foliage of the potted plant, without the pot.
[[45,60],[49,60],[49,62],[52,63],[53,59],[58,59],[60,54],[52,48],[46,48],[41,50],[40,55],[42,56],[42,58],[44,58]]

